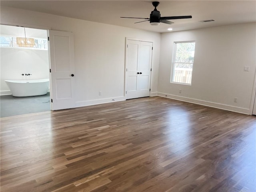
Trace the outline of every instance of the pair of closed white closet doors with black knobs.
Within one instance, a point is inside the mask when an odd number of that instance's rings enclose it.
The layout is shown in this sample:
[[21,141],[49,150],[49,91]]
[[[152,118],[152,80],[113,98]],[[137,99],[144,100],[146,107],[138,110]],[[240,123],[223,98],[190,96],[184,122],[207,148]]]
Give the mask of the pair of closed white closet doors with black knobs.
[[126,99],[150,96],[152,42],[126,40]]

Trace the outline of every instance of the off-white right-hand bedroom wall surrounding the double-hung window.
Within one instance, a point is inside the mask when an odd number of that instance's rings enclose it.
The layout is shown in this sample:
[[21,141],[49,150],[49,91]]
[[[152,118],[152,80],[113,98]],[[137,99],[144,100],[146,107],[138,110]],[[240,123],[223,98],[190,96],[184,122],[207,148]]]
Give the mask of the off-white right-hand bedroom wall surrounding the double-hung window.
[[[170,83],[173,44],[189,40],[196,41],[192,85]],[[255,23],[163,33],[158,95],[251,114],[255,53]]]

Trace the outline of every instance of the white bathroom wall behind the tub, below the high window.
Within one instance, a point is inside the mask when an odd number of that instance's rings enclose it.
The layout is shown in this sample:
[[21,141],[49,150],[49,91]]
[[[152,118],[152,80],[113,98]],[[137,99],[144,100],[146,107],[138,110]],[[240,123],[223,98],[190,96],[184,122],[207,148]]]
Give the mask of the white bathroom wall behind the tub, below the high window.
[[[0,48],[0,94],[10,94],[4,80],[33,80],[49,78],[48,50]],[[22,76],[21,74],[32,74]]]

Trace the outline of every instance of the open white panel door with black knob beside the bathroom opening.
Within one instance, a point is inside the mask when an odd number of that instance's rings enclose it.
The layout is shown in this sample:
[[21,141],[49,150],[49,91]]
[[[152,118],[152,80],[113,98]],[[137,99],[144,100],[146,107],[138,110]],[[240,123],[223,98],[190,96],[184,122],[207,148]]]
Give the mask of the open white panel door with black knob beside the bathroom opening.
[[52,110],[75,107],[74,35],[49,30]]

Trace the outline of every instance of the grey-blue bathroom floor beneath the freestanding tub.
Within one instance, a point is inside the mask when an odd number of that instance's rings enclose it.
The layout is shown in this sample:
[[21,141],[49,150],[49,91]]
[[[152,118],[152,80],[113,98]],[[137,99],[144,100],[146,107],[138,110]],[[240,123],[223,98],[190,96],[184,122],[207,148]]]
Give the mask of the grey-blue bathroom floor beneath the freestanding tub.
[[50,93],[42,96],[14,97],[0,96],[0,117],[50,111]]

